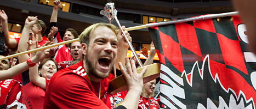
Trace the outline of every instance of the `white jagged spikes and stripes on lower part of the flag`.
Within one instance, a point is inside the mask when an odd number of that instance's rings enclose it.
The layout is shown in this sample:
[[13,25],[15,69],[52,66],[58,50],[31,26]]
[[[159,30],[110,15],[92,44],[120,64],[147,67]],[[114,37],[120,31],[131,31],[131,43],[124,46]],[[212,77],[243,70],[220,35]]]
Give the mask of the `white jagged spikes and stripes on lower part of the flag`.
[[[206,62],[207,61],[207,62]],[[226,93],[232,93],[230,94],[230,100],[229,100],[229,105],[226,104],[225,100],[223,99],[222,96],[219,96],[219,106],[216,106],[213,101],[210,98],[207,98],[207,107],[204,107],[203,104],[198,103],[197,108],[254,108],[254,100],[253,98],[250,98],[249,100],[246,100],[246,95],[240,90],[238,96],[236,96],[236,92],[231,89],[228,88],[227,90],[223,87],[223,85],[221,84],[220,80],[219,80],[219,76],[218,73],[213,76],[211,73],[211,67],[209,65],[211,65],[209,63],[209,54],[206,55],[206,57],[204,57],[203,60],[203,64],[202,64],[202,69],[200,69],[200,67],[198,66],[198,62],[195,62],[191,72],[189,73],[190,76],[190,81],[189,78],[187,77],[186,71],[183,71],[183,74],[181,74],[181,77],[185,76],[187,84],[190,85],[190,87],[193,86],[193,73],[194,73],[194,69],[198,69],[198,72],[202,71],[200,74],[201,79],[205,79],[203,78],[204,76],[204,65],[208,65],[208,69],[209,69],[209,74],[212,77],[212,81],[214,81],[215,83],[219,83],[219,85],[221,86],[221,88],[226,92]],[[184,86],[184,81],[183,78],[179,77],[178,75],[176,75],[172,70],[170,70],[166,65],[161,64],[161,72],[165,72],[166,74],[168,74],[172,79],[170,79],[168,76],[166,76],[165,74],[161,73],[160,77],[162,78],[163,81],[167,82],[170,86],[166,85],[166,84],[160,84],[161,87],[161,93],[164,96],[161,96],[160,99],[161,102],[163,104],[166,104],[168,107],[170,108],[176,108],[176,106],[181,107],[181,108],[186,108],[186,105],[183,104],[183,102],[179,101],[178,99],[176,99],[177,96],[178,98],[181,99],[185,99],[185,90],[182,88],[182,86]],[[196,78],[195,78],[196,79]],[[217,82],[218,81],[218,82]],[[172,93],[169,93],[170,90],[172,90]],[[245,100],[244,100],[245,99]],[[172,102],[170,102],[172,101]],[[244,104],[244,102],[248,103],[248,104]],[[250,103],[251,102],[251,103]]]

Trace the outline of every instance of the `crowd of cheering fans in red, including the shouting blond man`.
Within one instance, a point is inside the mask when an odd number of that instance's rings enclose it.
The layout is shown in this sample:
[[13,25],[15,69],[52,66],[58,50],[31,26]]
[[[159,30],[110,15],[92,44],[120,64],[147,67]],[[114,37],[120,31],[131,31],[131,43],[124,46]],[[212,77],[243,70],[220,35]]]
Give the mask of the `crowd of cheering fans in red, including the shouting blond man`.
[[[55,0],[47,37],[43,36],[45,23],[28,16],[21,37],[16,39],[9,39],[8,16],[0,10],[0,58],[78,38],[75,29],[67,28],[61,39],[59,8],[60,1]],[[129,45],[116,30],[114,25],[96,23],[80,34],[79,41],[23,54],[12,61],[1,60],[0,108],[159,108],[159,100],[152,98],[156,80],[143,86],[146,67],[140,74],[136,72],[136,61],[126,57]],[[131,41],[130,34],[124,33]],[[153,63],[153,44],[150,50],[144,65]],[[125,76],[128,90],[107,92],[115,78],[113,71]]]

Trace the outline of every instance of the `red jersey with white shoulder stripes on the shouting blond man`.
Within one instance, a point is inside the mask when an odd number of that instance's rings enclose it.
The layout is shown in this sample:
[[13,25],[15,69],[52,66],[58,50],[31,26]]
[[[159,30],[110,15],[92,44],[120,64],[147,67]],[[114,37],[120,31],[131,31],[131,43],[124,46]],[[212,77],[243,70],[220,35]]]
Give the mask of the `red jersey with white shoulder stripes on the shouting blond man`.
[[53,75],[45,93],[44,108],[108,108],[104,102],[112,78],[110,75],[100,82],[90,81],[81,60]]

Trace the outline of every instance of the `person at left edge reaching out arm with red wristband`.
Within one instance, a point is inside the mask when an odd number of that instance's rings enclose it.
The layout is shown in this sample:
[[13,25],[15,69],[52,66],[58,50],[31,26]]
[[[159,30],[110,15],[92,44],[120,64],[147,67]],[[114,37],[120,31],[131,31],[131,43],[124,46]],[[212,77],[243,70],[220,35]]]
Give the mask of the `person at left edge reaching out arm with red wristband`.
[[[45,43],[48,45],[50,42]],[[44,45],[43,45],[44,46]],[[25,107],[24,104],[21,104],[21,84],[16,80],[10,80],[16,75],[19,75],[21,72],[29,69],[31,66],[36,64],[40,60],[47,57],[49,54],[49,49],[44,51],[37,51],[36,55],[32,58],[29,58],[27,54],[19,56],[20,58],[27,59],[29,61],[22,62],[10,68],[10,62],[8,59],[3,59],[0,61],[0,107],[1,108],[22,108]],[[4,56],[0,56],[2,58]],[[8,80],[7,80],[8,79]]]

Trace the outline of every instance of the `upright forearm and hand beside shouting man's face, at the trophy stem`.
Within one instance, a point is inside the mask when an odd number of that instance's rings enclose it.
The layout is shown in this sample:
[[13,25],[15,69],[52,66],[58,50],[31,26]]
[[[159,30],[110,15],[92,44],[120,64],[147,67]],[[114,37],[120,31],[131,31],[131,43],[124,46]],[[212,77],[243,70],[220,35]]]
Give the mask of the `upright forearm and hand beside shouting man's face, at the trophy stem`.
[[[122,26],[122,29],[126,29],[125,26]],[[129,41],[132,41],[132,37],[130,37],[130,34],[127,31],[124,31],[126,33],[126,37],[129,39]],[[123,67],[126,65],[126,56],[128,52],[129,45],[124,39],[124,35],[122,34],[122,31],[119,31],[117,34],[118,36],[118,51],[117,51],[117,59],[116,59],[116,69],[120,70],[120,66],[118,65],[119,62],[122,63]]]

